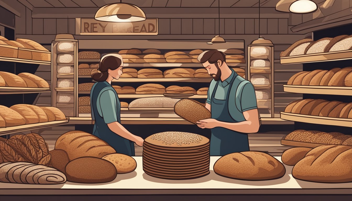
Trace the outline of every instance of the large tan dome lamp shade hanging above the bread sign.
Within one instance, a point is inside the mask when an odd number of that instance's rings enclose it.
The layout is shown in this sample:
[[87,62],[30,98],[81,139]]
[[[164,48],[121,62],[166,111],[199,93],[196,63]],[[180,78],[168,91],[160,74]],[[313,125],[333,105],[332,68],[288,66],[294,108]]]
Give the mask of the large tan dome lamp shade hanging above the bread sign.
[[101,7],[94,16],[99,21],[131,22],[145,20],[145,14],[138,6],[133,4],[118,3]]

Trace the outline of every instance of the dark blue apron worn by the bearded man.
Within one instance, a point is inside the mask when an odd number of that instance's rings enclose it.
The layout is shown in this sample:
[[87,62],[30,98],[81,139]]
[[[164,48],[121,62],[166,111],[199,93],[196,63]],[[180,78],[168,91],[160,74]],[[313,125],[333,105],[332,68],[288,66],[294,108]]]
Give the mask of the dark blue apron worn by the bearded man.
[[[239,75],[237,75],[239,76]],[[219,82],[216,82],[215,88],[211,97],[211,112],[212,118],[218,121],[224,121],[229,123],[237,123],[242,121],[243,113],[236,110],[238,114],[232,114],[232,117],[238,117],[240,121],[233,119],[228,111],[228,99],[230,90],[232,88],[233,81],[235,80],[236,74],[233,76],[229,83],[227,95],[225,100],[215,99],[216,89],[218,89]],[[235,101],[235,100],[232,100]],[[232,106],[233,105],[233,106]],[[231,103],[231,107],[236,107],[235,103]],[[223,127],[215,127],[211,129],[212,136],[210,138],[210,156],[224,156],[228,153],[249,151],[249,143],[247,133],[240,133],[229,130]]]

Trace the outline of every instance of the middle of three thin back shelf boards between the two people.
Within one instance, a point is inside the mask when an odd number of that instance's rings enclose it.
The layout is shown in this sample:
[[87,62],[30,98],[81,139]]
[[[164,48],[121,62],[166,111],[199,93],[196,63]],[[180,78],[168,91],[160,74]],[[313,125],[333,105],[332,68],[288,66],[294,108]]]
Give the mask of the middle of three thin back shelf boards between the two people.
[[120,78],[112,82],[210,82],[213,78]]

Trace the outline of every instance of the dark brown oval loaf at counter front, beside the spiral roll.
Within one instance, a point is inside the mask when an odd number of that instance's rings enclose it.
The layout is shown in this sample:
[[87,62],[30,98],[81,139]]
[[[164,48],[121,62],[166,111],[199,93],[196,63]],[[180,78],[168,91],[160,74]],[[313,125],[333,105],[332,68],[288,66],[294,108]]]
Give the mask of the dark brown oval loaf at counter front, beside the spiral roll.
[[117,176],[111,162],[94,157],[74,159],[66,165],[65,171],[67,181],[76,183],[106,183]]

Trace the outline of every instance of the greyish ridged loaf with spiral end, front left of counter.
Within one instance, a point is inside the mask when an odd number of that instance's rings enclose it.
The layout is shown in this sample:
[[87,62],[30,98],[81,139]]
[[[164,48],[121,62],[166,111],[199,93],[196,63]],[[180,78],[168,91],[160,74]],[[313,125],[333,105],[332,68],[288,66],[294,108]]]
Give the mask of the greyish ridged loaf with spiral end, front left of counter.
[[23,184],[61,184],[66,182],[62,172],[27,162],[0,164],[0,182]]

